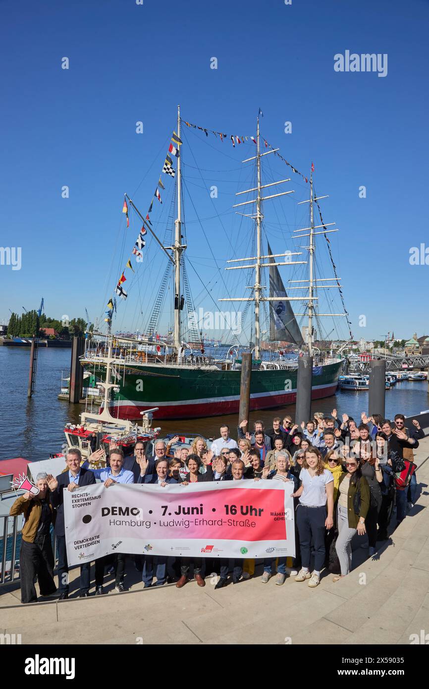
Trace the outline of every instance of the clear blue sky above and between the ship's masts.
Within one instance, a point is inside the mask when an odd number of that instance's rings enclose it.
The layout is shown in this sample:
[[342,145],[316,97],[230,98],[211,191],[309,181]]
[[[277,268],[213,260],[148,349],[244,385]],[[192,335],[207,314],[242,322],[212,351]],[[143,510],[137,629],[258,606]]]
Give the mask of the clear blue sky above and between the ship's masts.
[[[314,161],[317,194],[330,196],[325,222],[342,230],[331,234],[331,247],[355,337],[429,330],[429,266],[409,263],[410,248],[429,241],[426,0],[25,0],[0,3],[0,17],[0,244],[22,247],[21,270],[0,266],[0,320],[9,309],[39,307],[41,296],[56,318],[83,316],[85,307],[92,319],[103,315],[140,229],[133,215],[125,229],[123,193],[147,212],[180,103],[183,119],[238,135],[255,133],[261,107],[262,136],[304,174]],[[388,54],[387,76],[335,72],[334,55],[346,50]],[[213,56],[217,70],[210,69]],[[185,181],[196,209],[185,194],[189,280],[196,307],[214,309],[227,280],[216,268],[251,255],[250,223],[231,205],[233,193],[252,181],[241,161],[253,144],[233,149],[194,130],[184,134]],[[305,227],[296,203],[308,192],[278,159],[266,161],[264,172],[270,180],[292,177],[293,201],[266,203],[264,213],[273,251],[293,251],[282,239]],[[61,198],[63,185],[70,198]],[[366,198],[359,198],[362,185]],[[163,207],[155,201],[152,214],[161,239],[172,181],[165,187]],[[213,253],[196,213],[210,218],[202,225]],[[129,299],[116,321],[123,329],[141,327],[140,298],[147,315],[165,267],[152,242],[146,249],[125,283]],[[230,295],[245,294],[242,287],[232,294],[238,282],[228,280]],[[362,315],[366,327],[359,327]],[[168,320],[166,310],[165,329]]]

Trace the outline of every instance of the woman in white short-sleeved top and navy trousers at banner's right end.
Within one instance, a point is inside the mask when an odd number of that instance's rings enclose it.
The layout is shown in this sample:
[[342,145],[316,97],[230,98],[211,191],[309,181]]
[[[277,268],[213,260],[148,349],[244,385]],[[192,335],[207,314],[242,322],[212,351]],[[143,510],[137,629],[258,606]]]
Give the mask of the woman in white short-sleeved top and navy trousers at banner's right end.
[[[300,534],[302,568],[295,582],[310,579],[308,586],[315,588],[320,583],[320,570],[325,560],[325,531],[333,527],[334,482],[331,471],[325,469],[320,450],[310,446],[306,450],[300,472],[300,488],[293,497],[300,498],[296,521]],[[328,515],[326,516],[326,507]],[[314,546],[314,571],[310,574],[311,539]]]

